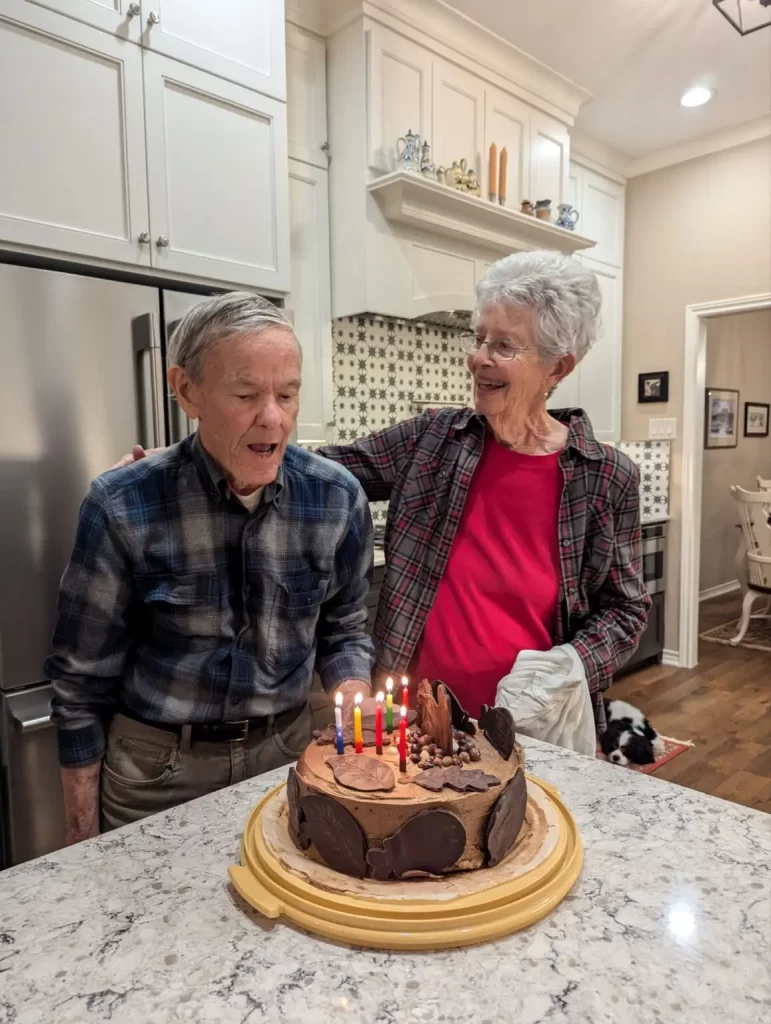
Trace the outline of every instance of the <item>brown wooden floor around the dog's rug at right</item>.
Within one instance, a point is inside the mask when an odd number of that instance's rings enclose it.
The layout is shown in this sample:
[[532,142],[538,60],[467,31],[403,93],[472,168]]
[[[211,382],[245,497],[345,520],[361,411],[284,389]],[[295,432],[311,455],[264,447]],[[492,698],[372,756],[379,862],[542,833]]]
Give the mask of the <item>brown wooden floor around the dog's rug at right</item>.
[[[739,607],[737,595],[705,601],[699,632],[735,622]],[[642,669],[606,696],[640,708],[663,735],[696,744],[656,778],[771,812],[771,653],[700,640],[695,669]]]

